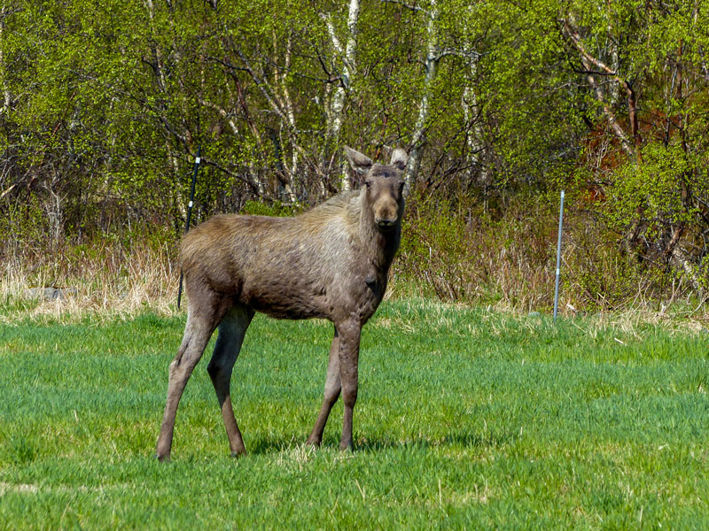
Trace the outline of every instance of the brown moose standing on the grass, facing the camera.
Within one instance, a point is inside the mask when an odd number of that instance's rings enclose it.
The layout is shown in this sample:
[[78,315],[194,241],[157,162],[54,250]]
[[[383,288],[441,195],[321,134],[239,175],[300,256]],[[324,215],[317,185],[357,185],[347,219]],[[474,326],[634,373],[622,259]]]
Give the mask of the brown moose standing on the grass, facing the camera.
[[319,446],[340,393],[344,419],[339,448],[352,449],[362,326],[377,311],[401,241],[405,150],[388,165],[345,148],[363,179],[360,189],[333,196],[292,218],[221,214],[184,236],[180,260],[188,296],[182,344],[169,366],[168,399],[157,457],[169,460],[175,414],[192,370],[219,329],[206,367],[231,455],[246,453],[231,406],[230,381],[254,312],[277,319],[329,319],[335,334],[323,404],[308,444]]

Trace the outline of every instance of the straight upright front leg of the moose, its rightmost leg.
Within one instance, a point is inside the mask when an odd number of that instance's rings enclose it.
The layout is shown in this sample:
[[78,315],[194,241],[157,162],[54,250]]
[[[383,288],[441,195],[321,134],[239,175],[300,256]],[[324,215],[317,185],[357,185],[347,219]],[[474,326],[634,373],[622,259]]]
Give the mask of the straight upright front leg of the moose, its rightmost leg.
[[357,365],[360,355],[359,321],[347,321],[339,330],[339,379],[342,383],[342,402],[345,404],[342,419],[340,450],[352,449],[352,412],[357,402]]

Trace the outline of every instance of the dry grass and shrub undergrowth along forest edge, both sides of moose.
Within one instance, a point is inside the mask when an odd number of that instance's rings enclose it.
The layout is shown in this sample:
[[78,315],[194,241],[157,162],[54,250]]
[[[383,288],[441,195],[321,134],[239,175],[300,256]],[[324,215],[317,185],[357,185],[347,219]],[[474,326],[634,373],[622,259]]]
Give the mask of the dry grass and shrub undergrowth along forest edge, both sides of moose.
[[[504,312],[552,312],[558,204],[531,197],[496,205],[409,199],[390,297],[431,296]],[[292,209],[246,204],[245,212]],[[75,231],[74,231],[75,233]],[[181,231],[160,223],[52,239],[19,227],[0,242],[0,319],[52,313],[175,310]],[[705,321],[705,294],[671,269],[643,263],[593,215],[565,213],[559,312],[638,313],[644,319]],[[44,300],[37,289],[68,288]],[[34,290],[33,290],[34,289]]]

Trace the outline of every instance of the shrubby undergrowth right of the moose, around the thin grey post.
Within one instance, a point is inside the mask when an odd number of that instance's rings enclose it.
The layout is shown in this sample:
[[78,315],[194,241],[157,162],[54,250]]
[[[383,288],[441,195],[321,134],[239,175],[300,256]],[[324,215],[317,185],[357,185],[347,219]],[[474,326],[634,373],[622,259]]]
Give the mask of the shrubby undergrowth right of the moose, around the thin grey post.
[[[555,202],[556,200],[556,202]],[[554,304],[558,198],[503,204],[415,200],[393,270],[429,296],[511,312]],[[567,205],[562,238],[562,315],[640,312],[706,319],[706,294],[661,264],[643,262],[583,208]]]

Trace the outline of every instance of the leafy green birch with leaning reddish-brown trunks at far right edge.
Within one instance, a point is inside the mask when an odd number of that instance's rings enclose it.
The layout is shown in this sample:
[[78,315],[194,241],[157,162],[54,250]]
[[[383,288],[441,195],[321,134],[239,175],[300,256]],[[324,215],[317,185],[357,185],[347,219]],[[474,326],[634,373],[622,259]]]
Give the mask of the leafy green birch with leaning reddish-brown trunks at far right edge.
[[608,204],[599,210],[628,251],[673,266],[697,289],[709,270],[707,120],[696,97],[709,89],[707,12],[706,2],[579,1],[559,17],[569,56],[625,155],[611,147],[603,158]]

